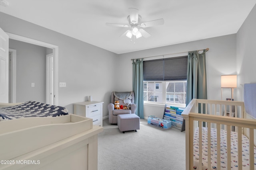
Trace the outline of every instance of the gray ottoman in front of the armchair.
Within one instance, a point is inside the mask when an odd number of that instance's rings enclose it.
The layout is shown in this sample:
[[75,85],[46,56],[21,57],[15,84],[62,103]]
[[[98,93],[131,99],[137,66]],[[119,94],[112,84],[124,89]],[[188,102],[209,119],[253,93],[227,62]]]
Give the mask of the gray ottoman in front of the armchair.
[[117,125],[121,132],[137,131],[140,129],[140,117],[136,114],[122,114],[117,116]]

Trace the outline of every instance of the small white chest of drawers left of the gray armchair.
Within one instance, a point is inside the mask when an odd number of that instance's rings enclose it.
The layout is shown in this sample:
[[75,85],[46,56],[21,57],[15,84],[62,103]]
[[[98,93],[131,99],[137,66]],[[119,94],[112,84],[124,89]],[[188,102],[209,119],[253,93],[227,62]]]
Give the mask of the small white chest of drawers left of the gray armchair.
[[94,125],[102,126],[102,104],[104,102],[79,102],[74,103],[74,114],[92,118]]

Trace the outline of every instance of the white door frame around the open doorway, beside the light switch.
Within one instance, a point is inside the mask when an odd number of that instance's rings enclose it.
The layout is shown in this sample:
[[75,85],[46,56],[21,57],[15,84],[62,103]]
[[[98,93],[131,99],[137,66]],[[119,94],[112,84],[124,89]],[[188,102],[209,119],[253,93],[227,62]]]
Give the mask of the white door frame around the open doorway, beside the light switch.
[[[27,37],[23,37],[20,35],[16,35],[13,33],[8,33],[6,32],[6,34],[9,36],[9,39],[14,39],[17,41],[22,41],[25,43],[30,43],[30,44],[34,44],[34,45],[38,45],[38,46],[42,46],[42,47],[46,47],[46,48],[50,48],[52,49],[52,55],[53,55],[53,92],[54,92],[54,100],[53,100],[53,104],[54,105],[58,105],[58,46],[57,45],[53,45],[53,44],[49,44],[49,43],[45,43],[42,41],[38,41],[35,39],[30,39]],[[47,84],[46,84],[47,86]]]

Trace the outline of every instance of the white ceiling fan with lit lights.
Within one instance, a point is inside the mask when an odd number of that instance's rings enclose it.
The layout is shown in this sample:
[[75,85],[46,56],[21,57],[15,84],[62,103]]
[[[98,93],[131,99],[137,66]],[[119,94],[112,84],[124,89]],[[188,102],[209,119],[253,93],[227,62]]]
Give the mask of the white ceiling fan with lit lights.
[[[124,32],[122,35],[126,35],[126,37],[128,37],[128,38],[132,38],[132,36],[134,36],[134,38],[136,37],[138,39],[142,36],[145,38],[148,38],[151,36],[150,33],[148,33],[147,31],[145,31],[142,28],[164,24],[164,19],[162,19],[162,18],[158,19],[158,20],[152,20],[152,21],[141,23],[140,22],[141,16],[138,14],[139,10],[136,8],[128,8],[128,9],[129,9],[130,15],[127,17],[127,20],[130,25],[118,24],[118,23],[106,23],[106,25],[115,26],[115,27],[131,27],[126,32]],[[140,27],[142,27],[142,28],[140,28]]]

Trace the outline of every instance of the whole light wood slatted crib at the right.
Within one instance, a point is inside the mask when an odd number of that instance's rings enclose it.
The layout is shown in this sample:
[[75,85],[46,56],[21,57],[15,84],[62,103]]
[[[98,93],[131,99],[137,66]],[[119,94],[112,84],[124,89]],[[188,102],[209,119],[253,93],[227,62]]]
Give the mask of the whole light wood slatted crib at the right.
[[[201,111],[199,107],[206,108],[205,114],[200,114]],[[234,111],[232,110],[232,106]],[[234,113],[227,116],[228,111],[232,110]],[[196,127],[202,129],[202,122],[206,122],[205,125],[210,128],[216,128],[217,131],[220,129],[225,129],[227,131],[227,169],[230,169],[230,131],[232,131],[232,126],[235,127],[235,131],[238,133],[238,169],[242,170],[242,134],[246,135],[250,142],[250,170],[254,170],[254,145],[255,137],[254,129],[256,129],[256,120],[244,119],[246,113],[244,111],[244,102],[235,101],[222,101],[222,100],[201,100],[193,99],[186,109],[182,112],[182,116],[185,120],[185,133],[186,133],[186,170],[194,170],[193,168],[193,136]],[[233,117],[232,117],[233,116]],[[208,133],[209,135],[210,133]],[[208,136],[208,138],[210,138]],[[202,141],[202,133],[199,136],[199,141]],[[208,140],[208,145],[210,146],[210,140]],[[229,143],[228,143],[229,142]],[[217,148],[220,150],[220,137],[217,133]],[[208,152],[210,153],[210,147],[208,147]],[[202,146],[199,147],[199,164],[202,164]],[[208,154],[210,157],[210,154]],[[208,157],[208,160],[209,160]],[[220,152],[217,152],[217,169],[220,170]],[[209,161],[210,162],[210,161]],[[197,170],[201,170],[202,167],[197,167]],[[211,169],[210,163],[208,164],[208,169]]]

